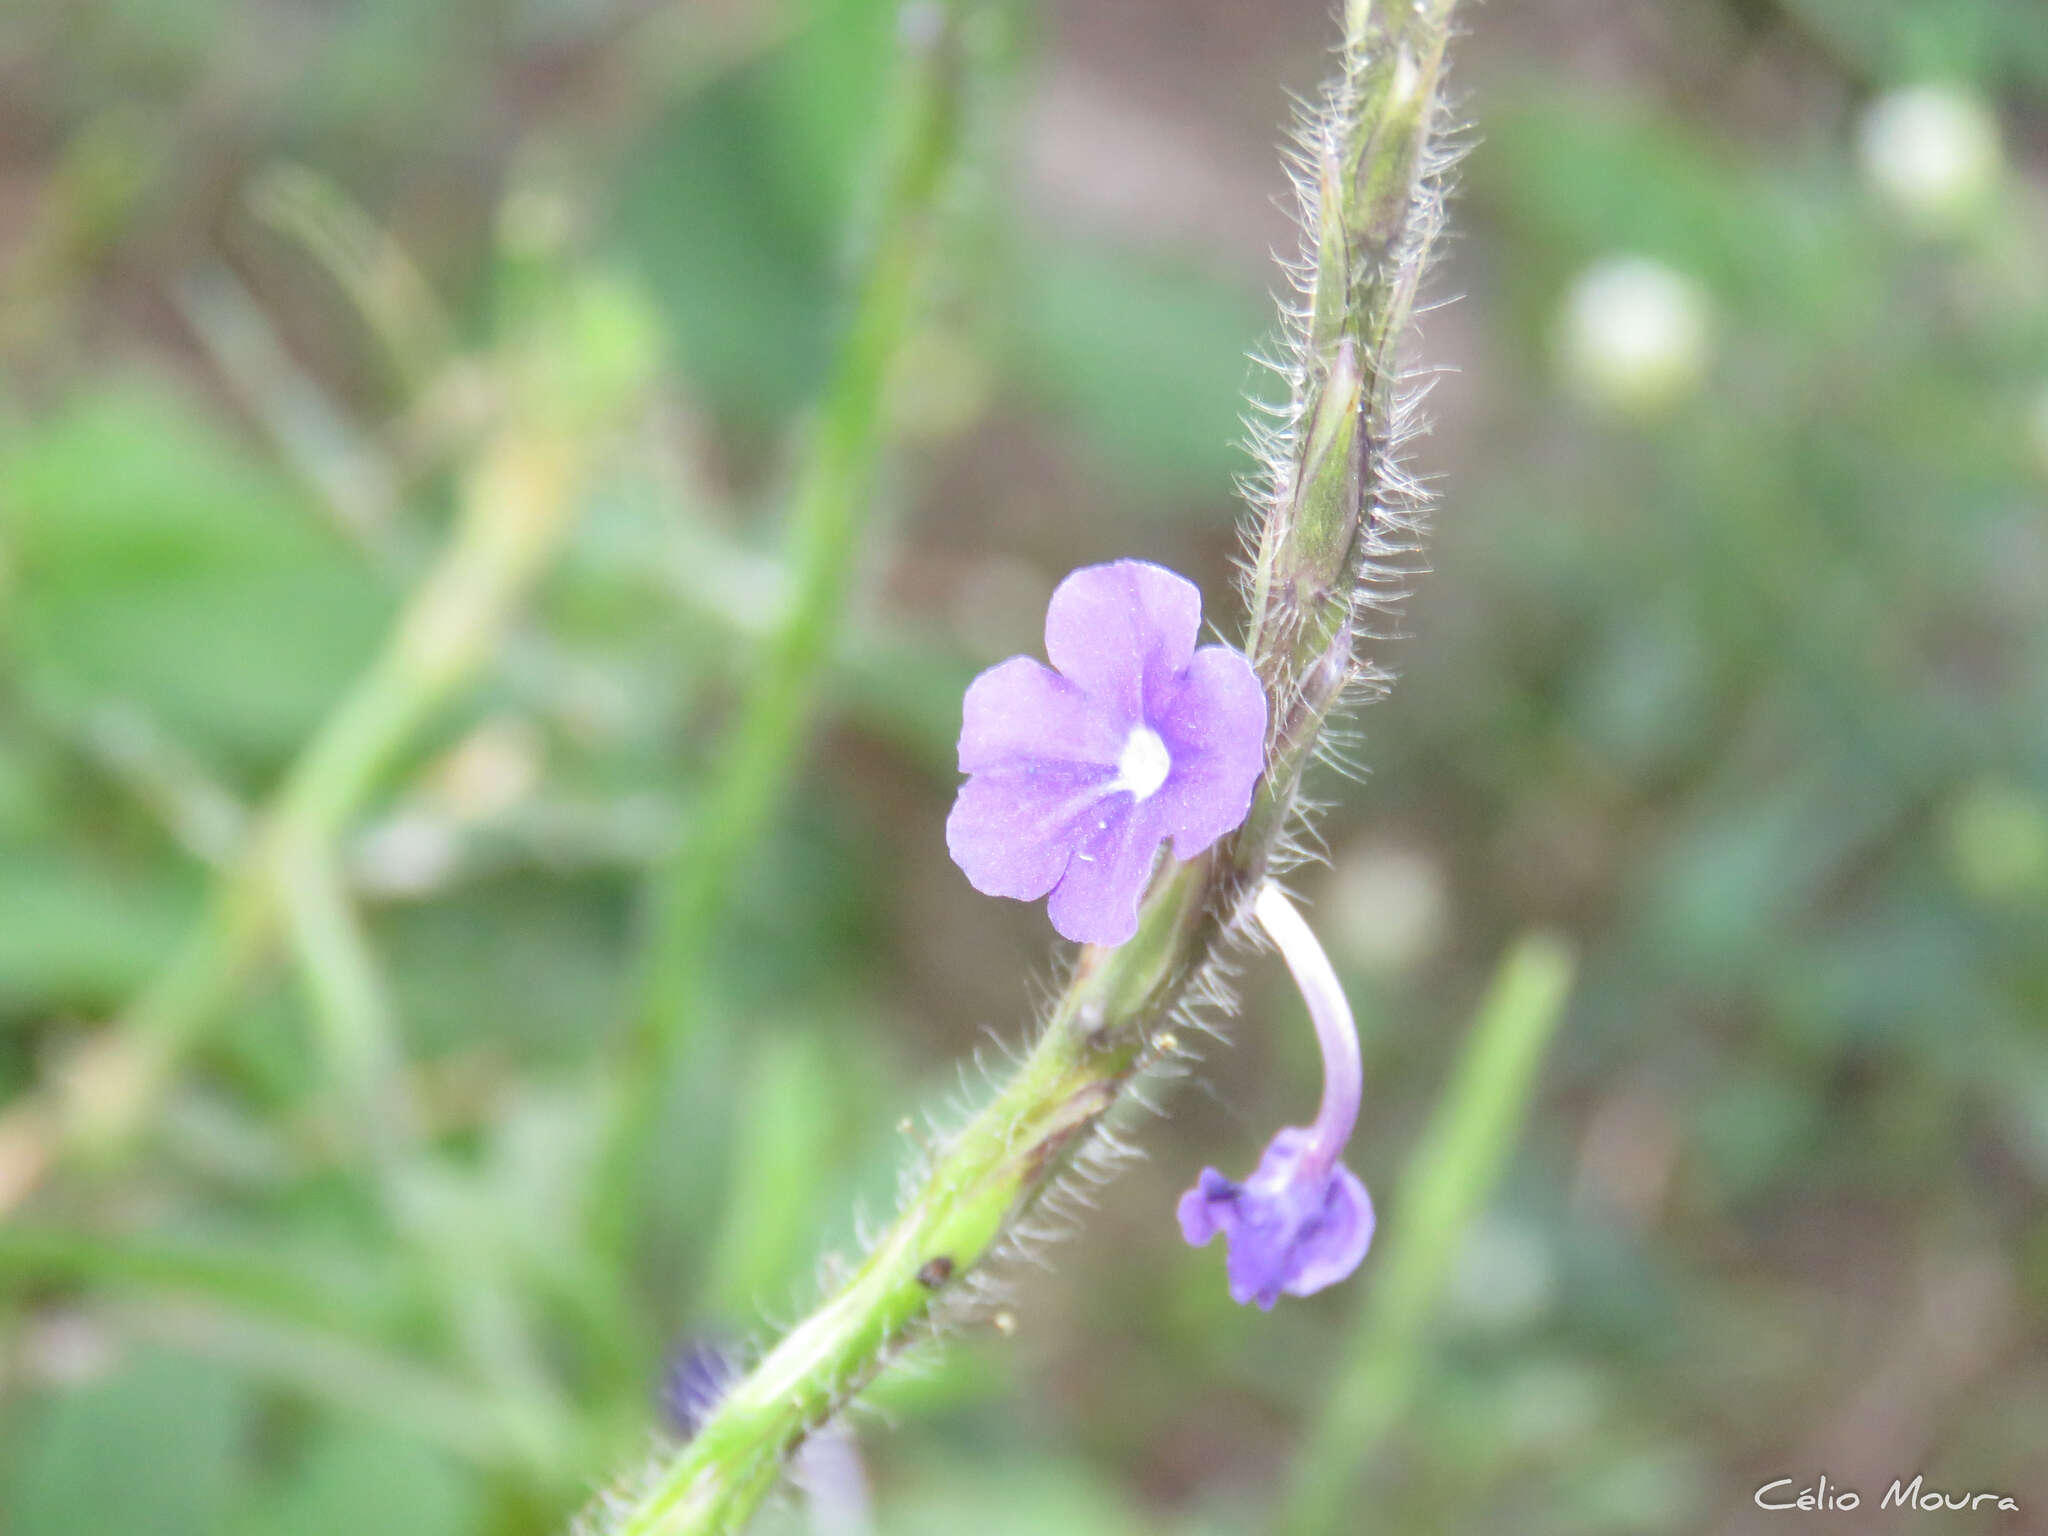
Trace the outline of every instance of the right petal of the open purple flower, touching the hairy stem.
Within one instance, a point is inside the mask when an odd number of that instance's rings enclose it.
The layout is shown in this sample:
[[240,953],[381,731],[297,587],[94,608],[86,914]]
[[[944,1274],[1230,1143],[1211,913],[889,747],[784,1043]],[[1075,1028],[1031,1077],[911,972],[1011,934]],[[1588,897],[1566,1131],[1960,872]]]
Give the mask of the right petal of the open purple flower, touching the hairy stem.
[[1251,811],[1266,768],[1266,690],[1243,655],[1204,645],[1147,702],[1147,723],[1174,760],[1159,815],[1174,836],[1174,858],[1194,858]]

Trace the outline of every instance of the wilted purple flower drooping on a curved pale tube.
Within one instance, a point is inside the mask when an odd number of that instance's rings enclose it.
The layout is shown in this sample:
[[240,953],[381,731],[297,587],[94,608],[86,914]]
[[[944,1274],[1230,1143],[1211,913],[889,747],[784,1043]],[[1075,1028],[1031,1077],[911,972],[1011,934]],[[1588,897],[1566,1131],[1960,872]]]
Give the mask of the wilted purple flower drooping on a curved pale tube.
[[1372,1243],[1372,1198],[1337,1161],[1358,1122],[1362,1087],[1343,987],[1280,887],[1264,887],[1253,911],[1309,1004],[1323,1047],[1323,1106],[1315,1124],[1280,1130],[1243,1184],[1204,1167],[1180,1198],[1180,1231],[1196,1247],[1221,1231],[1231,1249],[1231,1300],[1272,1311],[1280,1292],[1311,1296],[1358,1268]]

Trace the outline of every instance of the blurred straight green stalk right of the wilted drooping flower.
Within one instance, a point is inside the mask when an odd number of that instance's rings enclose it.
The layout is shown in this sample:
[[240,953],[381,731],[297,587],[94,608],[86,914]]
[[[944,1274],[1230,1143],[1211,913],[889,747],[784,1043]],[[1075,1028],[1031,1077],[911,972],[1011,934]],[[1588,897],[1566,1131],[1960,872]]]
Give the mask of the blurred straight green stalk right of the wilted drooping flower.
[[1294,1464],[1276,1526],[1282,1536],[1348,1528],[1352,1485],[1415,1391],[1458,1243],[1522,1133],[1573,969],[1571,948],[1552,934],[1520,940],[1501,963],[1382,1227],[1376,1278],[1337,1389]]

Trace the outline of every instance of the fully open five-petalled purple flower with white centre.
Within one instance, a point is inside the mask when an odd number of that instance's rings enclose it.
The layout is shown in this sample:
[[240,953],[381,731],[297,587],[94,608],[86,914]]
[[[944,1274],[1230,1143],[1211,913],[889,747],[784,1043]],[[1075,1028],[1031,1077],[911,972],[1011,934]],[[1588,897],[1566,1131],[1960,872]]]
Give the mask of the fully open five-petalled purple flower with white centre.
[[1053,666],[1014,655],[969,684],[946,848],[977,891],[1051,893],[1063,936],[1122,944],[1159,844],[1194,858],[1245,819],[1266,692],[1237,651],[1196,649],[1200,627],[1186,578],[1083,565],[1044,614]]

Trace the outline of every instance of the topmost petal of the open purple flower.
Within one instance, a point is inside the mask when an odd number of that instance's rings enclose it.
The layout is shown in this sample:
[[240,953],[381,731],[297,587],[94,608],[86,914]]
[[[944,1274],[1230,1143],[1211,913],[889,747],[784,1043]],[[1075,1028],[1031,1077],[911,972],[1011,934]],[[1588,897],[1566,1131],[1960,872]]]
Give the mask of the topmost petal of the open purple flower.
[[1083,565],[1044,610],[1044,653],[1128,729],[1180,674],[1202,629],[1202,592],[1143,559]]

